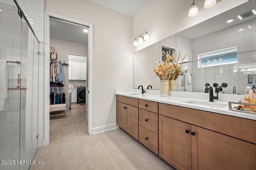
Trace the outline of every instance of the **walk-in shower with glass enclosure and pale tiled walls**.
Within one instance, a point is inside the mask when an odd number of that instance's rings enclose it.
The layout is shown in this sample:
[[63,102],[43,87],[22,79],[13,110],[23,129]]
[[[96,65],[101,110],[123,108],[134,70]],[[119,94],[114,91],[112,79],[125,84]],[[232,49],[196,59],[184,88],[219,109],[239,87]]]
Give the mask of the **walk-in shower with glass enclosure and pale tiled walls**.
[[[4,106],[0,108],[0,160],[5,161],[0,164],[1,170],[28,169],[38,141],[42,141],[42,121],[38,119],[43,115],[40,81],[44,61],[31,29],[35,20],[25,20],[24,14],[21,18],[23,12],[19,8],[16,0],[0,0],[0,60],[7,66],[7,72],[0,73],[0,80],[7,74],[8,82],[3,89],[7,90]],[[4,91],[0,93],[3,95]]]

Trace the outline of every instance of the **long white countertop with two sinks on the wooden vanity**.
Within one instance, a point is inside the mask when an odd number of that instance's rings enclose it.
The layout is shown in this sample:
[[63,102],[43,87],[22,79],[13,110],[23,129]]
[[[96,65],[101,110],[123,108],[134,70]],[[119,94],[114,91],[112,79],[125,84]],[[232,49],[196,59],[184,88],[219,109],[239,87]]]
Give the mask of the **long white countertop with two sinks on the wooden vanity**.
[[[128,97],[132,97],[132,98],[150,100],[150,101],[154,101],[154,102],[171,104],[171,105],[175,105],[175,106],[188,107],[188,108],[192,108],[192,109],[210,111],[210,112],[220,113],[220,114],[224,114],[224,115],[230,115],[230,116],[236,116],[236,117],[241,117],[241,118],[245,118],[245,119],[256,120],[255,114],[243,113],[243,112],[238,112],[238,111],[230,111],[228,109],[229,101],[219,102],[218,100],[214,100],[214,102],[209,102],[209,100],[200,100],[200,99],[191,98],[191,93],[193,93],[193,92],[190,92],[190,95],[188,95],[188,96],[190,96],[190,98],[170,96],[170,95],[169,95],[169,97],[161,97],[158,94],[159,90],[152,90],[152,92],[150,92],[150,91],[151,90],[148,90],[148,91],[146,91],[146,93],[141,94],[141,89],[140,89],[140,91],[138,91],[138,89],[124,89],[124,90],[116,89],[116,95],[128,96]],[[202,93],[202,94],[205,95],[204,93]],[[209,94],[206,94],[206,95],[209,96]],[[188,102],[190,102],[190,103],[188,103]],[[199,103],[202,102],[202,104],[205,104],[205,105],[195,104],[194,102],[199,102]],[[234,101],[232,101],[232,102],[234,102]],[[194,104],[192,104],[192,103],[194,103]],[[213,103],[215,106],[213,106]],[[209,105],[207,105],[207,104],[209,104]],[[222,107],[222,105],[223,105],[223,107]]]

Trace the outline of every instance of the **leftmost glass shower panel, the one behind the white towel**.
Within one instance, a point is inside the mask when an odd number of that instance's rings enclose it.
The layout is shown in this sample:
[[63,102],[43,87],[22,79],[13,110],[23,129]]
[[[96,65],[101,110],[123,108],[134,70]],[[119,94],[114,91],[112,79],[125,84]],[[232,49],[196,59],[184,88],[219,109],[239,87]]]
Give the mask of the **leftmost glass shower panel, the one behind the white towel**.
[[[22,39],[22,20],[14,2],[0,0],[0,9],[0,69],[4,67],[2,63],[6,62],[7,66],[7,72],[1,70],[0,81],[5,81],[4,75],[7,74],[8,82],[7,88],[2,83],[0,85],[1,100],[4,100],[4,106],[0,108],[0,160],[5,161],[4,164],[0,164],[0,169],[15,170],[19,169],[16,160],[20,158],[20,113],[24,106],[21,100],[24,91],[17,87],[21,73],[21,47],[18,44]],[[7,61],[18,61],[18,64]],[[4,95],[5,92],[7,96]]]

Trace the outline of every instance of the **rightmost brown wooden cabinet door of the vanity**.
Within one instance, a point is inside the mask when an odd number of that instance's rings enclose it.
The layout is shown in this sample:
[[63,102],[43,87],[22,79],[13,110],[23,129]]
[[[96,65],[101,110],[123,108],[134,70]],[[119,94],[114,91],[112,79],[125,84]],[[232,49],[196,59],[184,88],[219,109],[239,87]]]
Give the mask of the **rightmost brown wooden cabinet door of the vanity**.
[[192,125],[194,170],[255,170],[256,145]]

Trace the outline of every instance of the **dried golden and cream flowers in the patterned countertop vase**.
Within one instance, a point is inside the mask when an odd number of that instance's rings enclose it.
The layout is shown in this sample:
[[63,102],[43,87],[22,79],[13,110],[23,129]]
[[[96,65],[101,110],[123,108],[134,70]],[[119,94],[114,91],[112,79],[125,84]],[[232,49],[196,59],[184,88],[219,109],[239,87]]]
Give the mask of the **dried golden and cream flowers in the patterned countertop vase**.
[[[164,51],[162,51],[162,56],[164,55]],[[183,74],[181,65],[183,63],[183,60],[185,57],[183,57],[180,64],[176,63],[176,56],[178,53],[173,53],[172,56],[170,56],[167,52],[166,54],[166,61],[156,61],[156,67],[154,68],[154,72],[156,73],[156,76],[160,78],[160,80],[176,80],[176,78]],[[172,62],[170,60],[172,59]],[[180,59],[180,53],[178,60]]]

